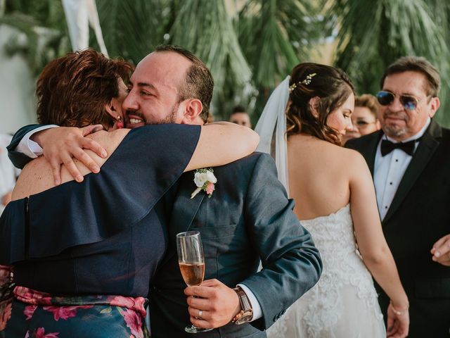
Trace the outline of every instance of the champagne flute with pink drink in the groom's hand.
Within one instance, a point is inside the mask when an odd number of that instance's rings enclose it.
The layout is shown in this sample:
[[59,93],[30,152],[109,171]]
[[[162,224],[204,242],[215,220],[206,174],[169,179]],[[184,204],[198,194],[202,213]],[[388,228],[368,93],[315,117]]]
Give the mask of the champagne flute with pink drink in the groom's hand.
[[[200,285],[205,277],[205,256],[203,254],[200,232],[180,232],[176,235],[176,249],[178,251],[178,263],[184,282],[188,287]],[[203,329],[195,325],[184,328],[188,333],[206,332],[211,329]]]

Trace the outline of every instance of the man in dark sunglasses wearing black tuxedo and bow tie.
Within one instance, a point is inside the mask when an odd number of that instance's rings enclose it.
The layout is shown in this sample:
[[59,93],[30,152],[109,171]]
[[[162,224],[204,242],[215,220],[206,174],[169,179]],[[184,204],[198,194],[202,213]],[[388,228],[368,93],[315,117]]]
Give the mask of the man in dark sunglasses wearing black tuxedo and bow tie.
[[[377,94],[382,130],[346,144],[373,175],[383,232],[409,297],[409,337],[449,337],[450,130],[432,120],[439,86],[425,58],[399,58]],[[385,309],[390,300],[378,292]]]

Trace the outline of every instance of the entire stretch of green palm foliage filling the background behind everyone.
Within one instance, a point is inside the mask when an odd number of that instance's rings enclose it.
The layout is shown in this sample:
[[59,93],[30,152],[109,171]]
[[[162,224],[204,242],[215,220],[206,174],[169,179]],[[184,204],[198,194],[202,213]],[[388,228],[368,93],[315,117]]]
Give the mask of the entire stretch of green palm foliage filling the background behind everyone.
[[[20,35],[13,37],[6,50],[25,54],[35,73],[70,49],[60,0],[4,0],[4,4],[0,23],[27,36],[26,43]],[[335,65],[349,73],[359,93],[378,92],[383,71],[400,56],[428,58],[442,75],[437,119],[450,125],[450,114],[445,113],[450,109],[446,102],[450,1],[96,0],[96,4],[110,56],[136,64],[158,44],[173,43],[205,61],[216,84],[212,109],[217,119],[228,119],[232,107],[243,104],[255,123],[276,84],[297,63],[309,60],[333,32],[338,42]],[[94,38],[91,46],[98,47]]]

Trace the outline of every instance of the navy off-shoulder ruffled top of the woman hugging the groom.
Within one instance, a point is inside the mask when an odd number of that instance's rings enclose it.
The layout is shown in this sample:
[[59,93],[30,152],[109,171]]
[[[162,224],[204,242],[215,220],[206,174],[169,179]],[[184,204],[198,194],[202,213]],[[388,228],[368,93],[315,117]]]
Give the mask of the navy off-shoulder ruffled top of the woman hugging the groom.
[[41,292],[147,296],[167,247],[161,198],[199,137],[193,125],[131,130],[100,173],[12,201],[0,218],[0,264]]

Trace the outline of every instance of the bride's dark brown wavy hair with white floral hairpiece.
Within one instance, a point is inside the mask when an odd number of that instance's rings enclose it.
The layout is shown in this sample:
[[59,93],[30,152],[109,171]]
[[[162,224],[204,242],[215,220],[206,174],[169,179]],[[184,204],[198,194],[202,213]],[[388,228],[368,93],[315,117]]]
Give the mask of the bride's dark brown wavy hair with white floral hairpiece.
[[[289,91],[286,111],[288,136],[302,132],[340,145],[338,132],[328,127],[326,120],[354,93],[354,85],[348,75],[329,65],[300,63],[290,75]],[[309,100],[314,97],[319,97],[318,117],[313,115],[309,105]]]

